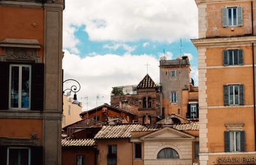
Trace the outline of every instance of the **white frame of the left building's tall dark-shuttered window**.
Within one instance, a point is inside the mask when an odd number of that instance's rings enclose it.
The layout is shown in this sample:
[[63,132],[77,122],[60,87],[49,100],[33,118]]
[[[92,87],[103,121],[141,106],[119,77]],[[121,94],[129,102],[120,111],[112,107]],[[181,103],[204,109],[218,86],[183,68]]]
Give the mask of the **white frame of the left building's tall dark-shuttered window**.
[[[11,85],[12,85],[12,67],[19,67],[19,106],[11,107]],[[22,67],[29,67],[29,107],[21,107],[21,88],[22,88]],[[9,71],[9,109],[22,109],[30,110],[31,109],[31,65],[22,65],[22,64],[10,64]]]

